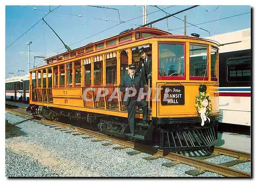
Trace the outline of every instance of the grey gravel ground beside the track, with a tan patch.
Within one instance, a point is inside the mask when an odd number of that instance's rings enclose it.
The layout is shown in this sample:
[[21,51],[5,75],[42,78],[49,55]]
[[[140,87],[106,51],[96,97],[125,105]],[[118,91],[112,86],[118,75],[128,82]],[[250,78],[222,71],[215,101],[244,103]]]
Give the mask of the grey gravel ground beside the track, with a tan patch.
[[[28,169],[16,174],[14,161],[6,157],[6,176],[191,177],[185,171],[196,169],[184,164],[168,168],[162,163],[172,162],[170,160],[159,158],[147,161],[142,158],[150,154],[129,155],[126,152],[133,151],[131,148],[115,150],[113,147],[119,145],[103,146],[101,144],[108,141],[92,142],[96,138],[82,139],[87,135],[67,134],[7,112],[6,119],[16,124],[16,132],[19,132],[14,137],[10,135],[10,138],[6,138],[6,155],[19,155],[16,163],[20,163],[20,166],[24,158],[29,161],[26,165]],[[230,160],[233,159],[227,157],[216,161],[223,163]],[[35,172],[32,172],[34,167],[30,168],[30,164],[37,166]],[[201,176],[221,175],[206,172]]]

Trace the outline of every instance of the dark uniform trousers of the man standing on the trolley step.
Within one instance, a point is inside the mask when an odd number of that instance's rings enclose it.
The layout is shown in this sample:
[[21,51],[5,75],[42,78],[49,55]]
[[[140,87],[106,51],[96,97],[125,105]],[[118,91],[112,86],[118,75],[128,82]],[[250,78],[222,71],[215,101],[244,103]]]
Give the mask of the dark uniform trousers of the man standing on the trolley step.
[[147,120],[147,113],[148,113],[147,102],[144,100],[137,101],[137,98],[134,100],[130,100],[127,108],[128,108],[128,121],[129,121],[131,133],[135,132],[135,106],[136,105],[142,107],[143,120]]

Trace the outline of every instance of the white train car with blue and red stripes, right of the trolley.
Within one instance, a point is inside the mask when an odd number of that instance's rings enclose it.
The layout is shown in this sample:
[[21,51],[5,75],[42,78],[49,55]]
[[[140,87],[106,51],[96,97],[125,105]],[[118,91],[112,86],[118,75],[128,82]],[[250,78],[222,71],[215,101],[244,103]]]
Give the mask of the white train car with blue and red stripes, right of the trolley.
[[222,123],[251,125],[251,29],[206,37],[219,50],[220,110]]

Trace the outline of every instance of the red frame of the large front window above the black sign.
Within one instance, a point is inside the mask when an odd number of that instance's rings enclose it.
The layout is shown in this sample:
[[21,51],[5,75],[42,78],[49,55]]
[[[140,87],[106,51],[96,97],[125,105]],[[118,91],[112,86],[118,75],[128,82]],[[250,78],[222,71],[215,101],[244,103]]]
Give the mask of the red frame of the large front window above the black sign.
[[[160,60],[159,60],[159,46],[160,44],[180,44],[183,45],[184,50],[184,75],[183,76],[160,76],[159,69],[160,69]],[[157,50],[157,61],[158,61],[158,80],[186,80],[186,42],[158,42],[158,50]]]

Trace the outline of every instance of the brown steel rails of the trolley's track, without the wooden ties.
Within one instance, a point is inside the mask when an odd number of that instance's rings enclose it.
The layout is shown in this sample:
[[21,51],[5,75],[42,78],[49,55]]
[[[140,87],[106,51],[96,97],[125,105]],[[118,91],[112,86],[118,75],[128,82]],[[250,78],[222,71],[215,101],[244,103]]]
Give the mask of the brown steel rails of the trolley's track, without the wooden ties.
[[[23,112],[20,112],[20,111],[15,111],[15,110],[8,109],[8,108],[6,108],[6,110],[9,111],[9,112],[17,113],[17,114],[20,114],[20,115],[25,115],[27,117],[32,117],[32,118],[35,118],[35,119],[39,118],[39,117],[30,115],[30,114],[27,114],[27,113],[23,113]],[[47,120],[47,119],[43,119],[43,118],[41,118],[40,120],[44,121],[44,122],[51,123],[51,124],[59,125],[61,127],[72,128],[73,131],[75,131],[75,132],[79,132],[79,133],[90,135],[90,136],[93,136],[93,137],[96,137],[96,138],[100,138],[100,139],[103,139],[103,140],[106,140],[106,141],[109,141],[109,142],[113,142],[113,143],[116,143],[116,144],[119,144],[119,145],[123,145],[125,147],[129,147],[129,148],[133,148],[135,150],[139,150],[141,152],[151,153],[152,155],[155,155],[157,157],[166,158],[166,159],[169,159],[169,160],[173,160],[174,162],[177,162],[177,163],[182,163],[182,164],[186,164],[186,165],[189,165],[189,166],[194,166],[196,168],[199,168],[199,169],[202,169],[202,170],[205,170],[205,171],[209,171],[209,172],[214,172],[214,173],[217,173],[217,174],[221,174],[221,175],[224,175],[224,176],[227,176],[227,177],[250,177],[251,176],[249,173],[246,173],[246,172],[243,172],[243,171],[239,171],[239,170],[232,169],[232,168],[225,167],[225,166],[218,165],[218,164],[209,163],[209,162],[199,160],[199,159],[196,159],[196,158],[187,157],[185,155],[181,155],[181,154],[178,154],[178,153],[173,153],[173,152],[165,153],[163,150],[157,149],[155,147],[151,147],[151,146],[147,146],[147,145],[143,145],[143,144],[139,144],[139,143],[133,143],[133,142],[130,142],[130,141],[125,141],[125,140],[122,140],[122,139],[117,138],[117,137],[109,137],[109,136],[106,136],[106,135],[101,134],[101,133],[90,131],[88,129],[72,126],[70,124],[60,123],[60,122],[57,122],[57,121],[51,121],[51,120]],[[230,151],[230,152],[228,152],[227,150]],[[220,152],[222,154],[227,153],[227,155],[233,154],[233,156],[237,156],[237,157],[239,157],[239,154],[243,153],[243,152],[239,152],[239,151],[224,149],[222,147],[217,147],[215,152]],[[244,155],[243,154],[242,156],[247,156],[246,158],[248,158],[248,159],[250,158],[249,155]]]

